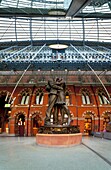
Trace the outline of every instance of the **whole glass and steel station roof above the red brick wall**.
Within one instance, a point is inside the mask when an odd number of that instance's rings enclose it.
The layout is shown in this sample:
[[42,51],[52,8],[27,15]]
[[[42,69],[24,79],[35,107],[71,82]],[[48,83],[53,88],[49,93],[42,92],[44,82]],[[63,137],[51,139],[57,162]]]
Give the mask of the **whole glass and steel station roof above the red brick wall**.
[[[0,83],[16,83],[29,69],[23,83],[40,79],[45,84],[50,75],[61,75],[68,82],[92,84],[97,80],[91,67],[110,83],[111,1],[82,0],[87,4],[67,16],[77,1],[0,0]],[[53,15],[52,9],[59,12]],[[55,52],[50,41],[68,48]]]

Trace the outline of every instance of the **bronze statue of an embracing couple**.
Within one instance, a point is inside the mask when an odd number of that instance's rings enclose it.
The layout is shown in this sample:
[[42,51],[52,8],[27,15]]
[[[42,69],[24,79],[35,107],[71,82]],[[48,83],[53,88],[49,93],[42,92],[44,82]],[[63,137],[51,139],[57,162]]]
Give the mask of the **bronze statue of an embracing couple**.
[[[48,81],[46,90],[49,92],[49,105],[46,111],[45,125],[51,125],[51,115],[53,115],[54,125],[70,124],[70,112],[65,103],[65,82],[61,78]],[[64,115],[68,120],[64,122]],[[59,118],[61,115],[61,121]]]

